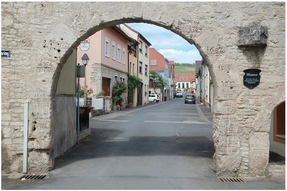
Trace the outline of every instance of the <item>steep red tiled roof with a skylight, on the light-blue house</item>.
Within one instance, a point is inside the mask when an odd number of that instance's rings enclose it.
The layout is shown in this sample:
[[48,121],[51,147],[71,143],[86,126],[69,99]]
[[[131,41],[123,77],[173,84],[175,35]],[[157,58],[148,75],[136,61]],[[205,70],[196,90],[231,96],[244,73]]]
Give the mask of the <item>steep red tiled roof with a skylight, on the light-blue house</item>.
[[[151,60],[156,60],[156,66],[151,66]],[[149,48],[149,70],[164,71],[165,62],[169,61],[154,48]]]

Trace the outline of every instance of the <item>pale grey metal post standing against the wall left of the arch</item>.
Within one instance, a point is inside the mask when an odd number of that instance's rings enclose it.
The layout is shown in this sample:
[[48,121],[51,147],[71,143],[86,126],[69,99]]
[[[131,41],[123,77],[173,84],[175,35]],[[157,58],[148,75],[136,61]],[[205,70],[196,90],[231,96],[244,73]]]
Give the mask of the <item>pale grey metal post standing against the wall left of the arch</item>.
[[23,173],[27,173],[28,158],[28,103],[24,103]]

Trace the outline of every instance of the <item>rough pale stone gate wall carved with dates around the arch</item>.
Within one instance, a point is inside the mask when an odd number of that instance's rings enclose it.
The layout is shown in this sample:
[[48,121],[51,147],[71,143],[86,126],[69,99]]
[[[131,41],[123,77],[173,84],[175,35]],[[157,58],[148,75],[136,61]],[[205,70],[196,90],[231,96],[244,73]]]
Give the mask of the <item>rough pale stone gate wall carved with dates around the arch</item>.
[[[81,40],[125,22],[169,29],[205,59],[215,87],[216,174],[267,170],[271,113],[285,101],[284,2],[1,2],[1,14],[1,48],[12,54],[1,59],[2,172],[22,171],[25,102],[29,172],[51,170],[60,71]],[[238,31],[251,25],[266,28],[266,46],[238,46]],[[251,68],[262,71],[254,89],[243,85]]]

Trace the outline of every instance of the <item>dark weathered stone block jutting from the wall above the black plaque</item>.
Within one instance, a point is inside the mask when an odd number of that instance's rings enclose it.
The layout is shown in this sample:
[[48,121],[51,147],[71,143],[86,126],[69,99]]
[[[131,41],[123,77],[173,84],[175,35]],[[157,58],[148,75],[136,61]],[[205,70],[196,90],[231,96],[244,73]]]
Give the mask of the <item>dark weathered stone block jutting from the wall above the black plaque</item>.
[[266,46],[267,28],[250,26],[241,28],[237,32],[237,46]]

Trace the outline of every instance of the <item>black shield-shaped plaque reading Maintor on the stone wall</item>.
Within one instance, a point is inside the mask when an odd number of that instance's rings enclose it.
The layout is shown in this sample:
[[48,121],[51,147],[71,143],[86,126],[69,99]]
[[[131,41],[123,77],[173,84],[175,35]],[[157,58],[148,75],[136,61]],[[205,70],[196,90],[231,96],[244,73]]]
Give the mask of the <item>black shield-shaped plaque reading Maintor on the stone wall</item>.
[[260,83],[260,72],[258,69],[247,69],[243,71],[243,84],[249,89],[257,87]]

